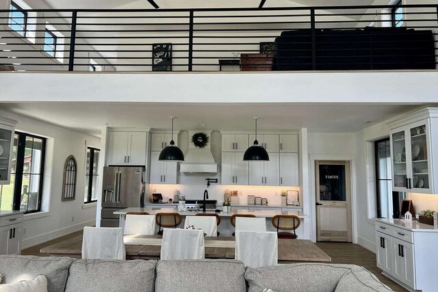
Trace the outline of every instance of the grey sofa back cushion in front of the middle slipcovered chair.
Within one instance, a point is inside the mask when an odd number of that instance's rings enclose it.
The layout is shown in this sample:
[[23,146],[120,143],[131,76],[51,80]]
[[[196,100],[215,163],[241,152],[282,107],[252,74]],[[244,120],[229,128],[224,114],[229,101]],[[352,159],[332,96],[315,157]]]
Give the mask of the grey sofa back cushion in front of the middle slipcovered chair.
[[155,290],[245,292],[245,266],[235,260],[159,261]]

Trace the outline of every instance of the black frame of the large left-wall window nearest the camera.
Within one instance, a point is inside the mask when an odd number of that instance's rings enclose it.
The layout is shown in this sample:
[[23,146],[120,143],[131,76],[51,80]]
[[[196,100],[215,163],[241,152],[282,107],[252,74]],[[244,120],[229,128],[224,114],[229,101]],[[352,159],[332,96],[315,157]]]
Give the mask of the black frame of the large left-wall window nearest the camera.
[[[41,211],[42,200],[42,185],[44,182],[44,160],[46,157],[46,143],[47,138],[40,137],[38,135],[32,135],[29,133],[15,131],[14,134],[18,135],[18,144],[16,146],[16,165],[15,165],[15,182],[14,182],[14,203],[12,204],[12,210],[20,211],[21,205],[21,189],[23,189],[23,168],[26,148],[26,137],[33,137],[42,140],[41,150],[41,164],[40,164],[40,181],[38,187],[38,202],[36,210],[25,211],[25,214],[38,213]],[[20,158],[20,159],[19,159]],[[21,159],[22,158],[22,159]],[[29,173],[31,175],[31,173]]]

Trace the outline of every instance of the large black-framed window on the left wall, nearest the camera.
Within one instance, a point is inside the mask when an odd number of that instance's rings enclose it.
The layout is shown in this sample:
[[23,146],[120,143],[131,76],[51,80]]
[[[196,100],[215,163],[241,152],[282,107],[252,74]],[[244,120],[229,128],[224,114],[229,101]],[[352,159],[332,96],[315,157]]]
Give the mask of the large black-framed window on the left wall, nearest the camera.
[[33,213],[41,210],[45,146],[43,137],[15,132],[11,183],[0,186],[1,211]]

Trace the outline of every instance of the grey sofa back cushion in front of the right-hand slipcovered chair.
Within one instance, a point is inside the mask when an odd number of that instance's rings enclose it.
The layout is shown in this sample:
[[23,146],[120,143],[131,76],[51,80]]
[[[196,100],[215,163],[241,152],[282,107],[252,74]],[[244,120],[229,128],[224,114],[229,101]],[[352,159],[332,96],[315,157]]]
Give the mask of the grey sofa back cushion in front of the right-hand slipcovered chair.
[[277,292],[333,292],[339,280],[355,265],[296,263],[274,267],[246,267],[249,292],[270,288]]

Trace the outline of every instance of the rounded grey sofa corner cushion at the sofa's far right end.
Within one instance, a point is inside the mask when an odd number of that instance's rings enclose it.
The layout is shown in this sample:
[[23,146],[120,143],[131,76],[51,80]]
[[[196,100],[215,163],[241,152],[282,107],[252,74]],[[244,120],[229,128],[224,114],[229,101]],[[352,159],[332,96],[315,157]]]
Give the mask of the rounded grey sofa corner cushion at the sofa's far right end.
[[387,292],[392,291],[378,280],[374,274],[364,267],[353,267],[348,271],[337,284],[335,292],[368,292],[378,291]]

